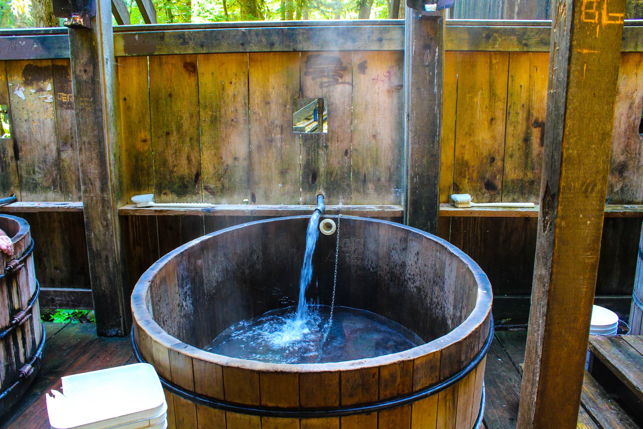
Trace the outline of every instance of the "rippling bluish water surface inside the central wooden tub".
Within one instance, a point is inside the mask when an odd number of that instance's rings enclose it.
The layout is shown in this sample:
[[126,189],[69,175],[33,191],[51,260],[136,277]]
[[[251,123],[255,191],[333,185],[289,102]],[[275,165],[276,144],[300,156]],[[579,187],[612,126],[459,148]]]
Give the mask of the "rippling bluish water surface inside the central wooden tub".
[[308,306],[303,320],[294,313],[296,307],[287,307],[243,320],[204,349],[262,362],[325,363],[374,358],[424,344],[403,325],[369,311],[336,306],[331,323],[329,306]]

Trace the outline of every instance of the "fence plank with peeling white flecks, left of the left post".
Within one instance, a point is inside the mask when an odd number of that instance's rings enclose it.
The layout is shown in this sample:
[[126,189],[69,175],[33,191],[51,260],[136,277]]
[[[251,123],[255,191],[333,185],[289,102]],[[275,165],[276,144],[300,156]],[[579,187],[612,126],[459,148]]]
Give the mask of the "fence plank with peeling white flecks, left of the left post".
[[62,201],[51,60],[8,61],[6,73],[21,196]]

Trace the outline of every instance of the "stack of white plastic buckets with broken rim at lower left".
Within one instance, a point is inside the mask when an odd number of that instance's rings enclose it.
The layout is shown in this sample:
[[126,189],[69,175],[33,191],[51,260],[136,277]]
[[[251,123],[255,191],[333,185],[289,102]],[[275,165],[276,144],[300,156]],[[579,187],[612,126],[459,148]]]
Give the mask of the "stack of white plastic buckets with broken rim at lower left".
[[165,394],[147,363],[63,377],[62,393],[51,392],[51,429],[167,428]]

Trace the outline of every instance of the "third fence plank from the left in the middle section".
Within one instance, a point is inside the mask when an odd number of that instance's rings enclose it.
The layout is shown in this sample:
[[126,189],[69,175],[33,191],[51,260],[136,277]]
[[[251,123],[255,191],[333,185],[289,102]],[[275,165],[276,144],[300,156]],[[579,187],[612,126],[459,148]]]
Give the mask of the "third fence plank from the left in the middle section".
[[203,201],[250,198],[248,54],[198,55]]

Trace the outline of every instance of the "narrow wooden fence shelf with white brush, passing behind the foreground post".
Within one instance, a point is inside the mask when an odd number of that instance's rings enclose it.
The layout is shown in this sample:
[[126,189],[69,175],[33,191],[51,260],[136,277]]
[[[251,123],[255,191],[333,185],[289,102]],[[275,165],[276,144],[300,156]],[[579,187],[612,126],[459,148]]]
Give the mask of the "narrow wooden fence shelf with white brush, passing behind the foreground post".
[[[456,208],[440,204],[440,216],[445,217],[538,217],[538,205],[534,208],[471,207]],[[605,217],[643,217],[643,205],[606,205]]]

